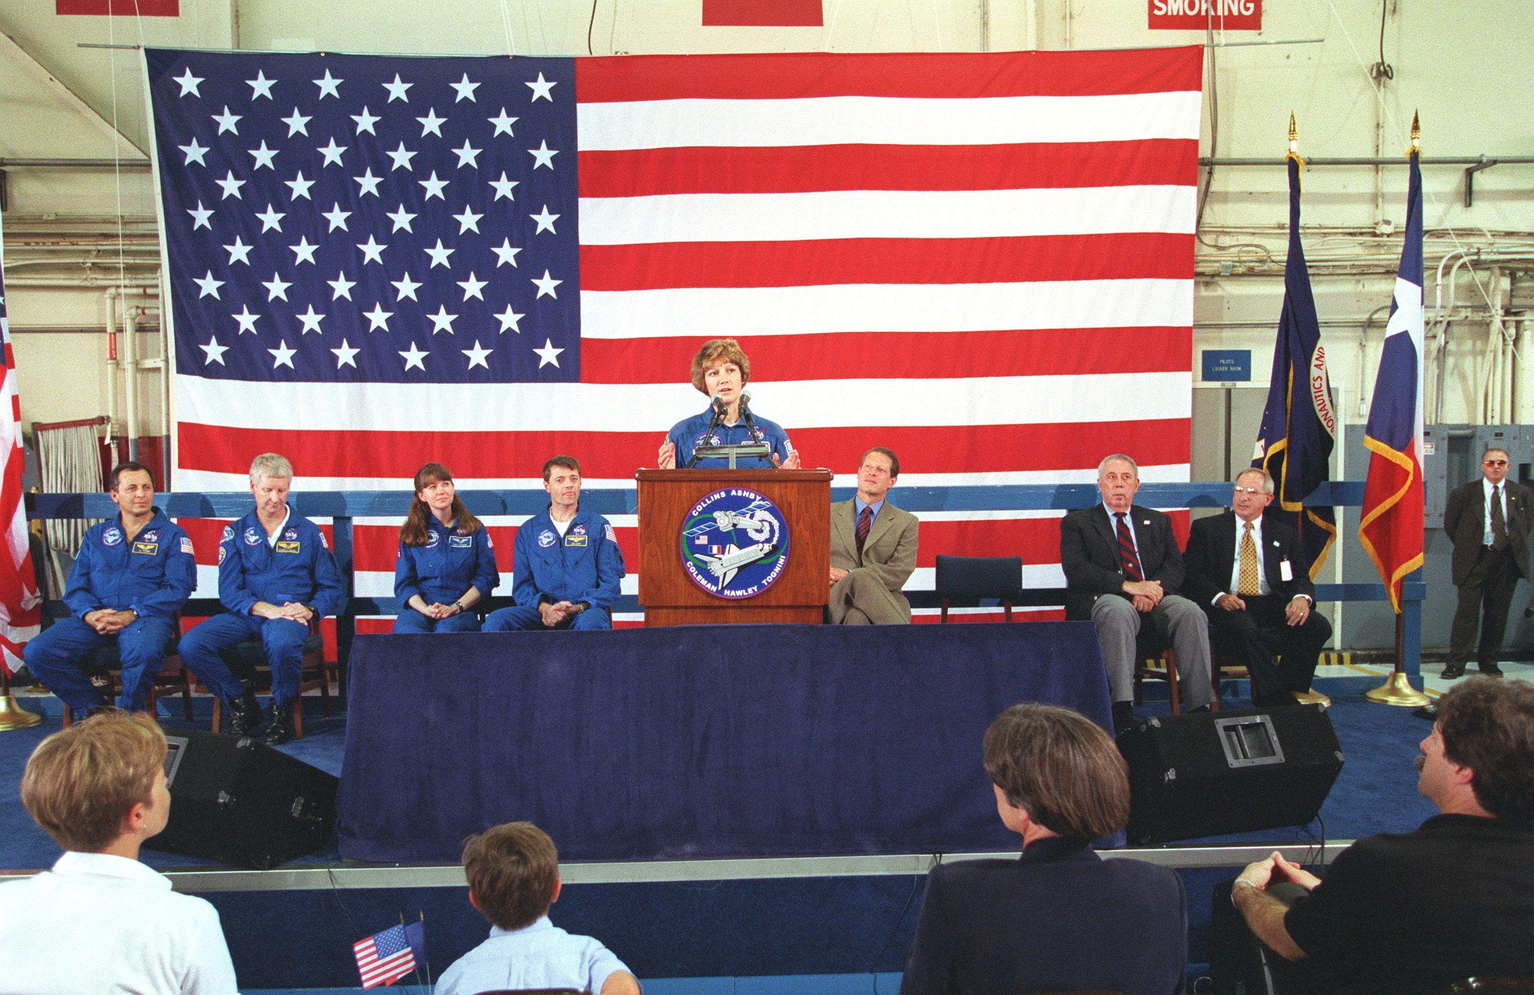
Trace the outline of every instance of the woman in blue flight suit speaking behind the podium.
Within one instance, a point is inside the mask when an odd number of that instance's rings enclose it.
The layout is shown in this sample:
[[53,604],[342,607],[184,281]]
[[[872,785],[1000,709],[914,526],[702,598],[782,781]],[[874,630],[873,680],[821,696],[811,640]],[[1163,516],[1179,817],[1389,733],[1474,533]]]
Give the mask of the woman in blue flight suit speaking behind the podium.
[[693,458],[698,446],[739,446],[767,443],[769,457],[738,458],[738,468],[799,469],[799,454],[788,445],[782,426],[756,419],[750,409],[746,385],[752,379],[752,362],[735,339],[710,339],[692,357],[692,385],[709,399],[703,414],[672,426],[661,443],[661,469],[718,469],[730,463],[723,457]]

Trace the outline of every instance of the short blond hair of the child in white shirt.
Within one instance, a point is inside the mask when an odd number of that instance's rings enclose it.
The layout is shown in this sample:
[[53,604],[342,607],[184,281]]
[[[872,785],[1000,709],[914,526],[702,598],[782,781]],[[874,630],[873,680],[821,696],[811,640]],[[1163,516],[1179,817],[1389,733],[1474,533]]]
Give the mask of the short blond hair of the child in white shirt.
[[21,803],[64,849],[97,852],[123,832],[123,817],[153,803],[166,734],[149,714],[101,711],[54,733],[26,762]]

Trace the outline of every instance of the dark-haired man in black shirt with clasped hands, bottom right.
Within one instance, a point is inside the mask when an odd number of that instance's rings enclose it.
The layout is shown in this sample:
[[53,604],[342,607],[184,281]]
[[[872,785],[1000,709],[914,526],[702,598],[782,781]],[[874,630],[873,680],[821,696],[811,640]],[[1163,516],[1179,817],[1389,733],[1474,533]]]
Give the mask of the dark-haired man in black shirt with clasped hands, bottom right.
[[[1325,878],[1281,854],[1230,900],[1322,987],[1428,995],[1471,975],[1534,978],[1534,685],[1474,678],[1439,699],[1417,791],[1439,813],[1338,854]],[[1292,906],[1270,888],[1293,883]],[[1284,891],[1284,889],[1278,889]]]

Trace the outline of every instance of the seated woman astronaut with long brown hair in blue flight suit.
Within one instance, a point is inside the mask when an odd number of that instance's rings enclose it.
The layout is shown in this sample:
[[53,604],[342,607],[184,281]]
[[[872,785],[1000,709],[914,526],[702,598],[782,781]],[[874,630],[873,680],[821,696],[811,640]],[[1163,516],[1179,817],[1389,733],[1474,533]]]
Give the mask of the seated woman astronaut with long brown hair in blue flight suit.
[[399,529],[394,632],[479,632],[471,609],[500,583],[489,530],[463,506],[440,463],[416,471],[416,498]]

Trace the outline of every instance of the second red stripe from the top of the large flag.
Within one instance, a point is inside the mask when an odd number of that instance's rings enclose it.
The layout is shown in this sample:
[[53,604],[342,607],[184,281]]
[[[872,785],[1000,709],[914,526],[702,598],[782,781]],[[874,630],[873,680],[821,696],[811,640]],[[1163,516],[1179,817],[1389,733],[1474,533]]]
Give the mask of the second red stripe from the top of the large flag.
[[810,190],[1035,190],[1186,186],[1198,143],[775,146],[595,149],[580,153],[580,195],[798,193]]

